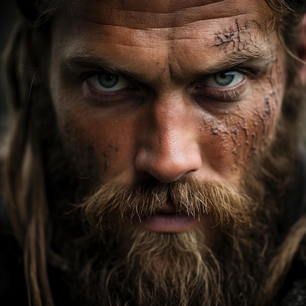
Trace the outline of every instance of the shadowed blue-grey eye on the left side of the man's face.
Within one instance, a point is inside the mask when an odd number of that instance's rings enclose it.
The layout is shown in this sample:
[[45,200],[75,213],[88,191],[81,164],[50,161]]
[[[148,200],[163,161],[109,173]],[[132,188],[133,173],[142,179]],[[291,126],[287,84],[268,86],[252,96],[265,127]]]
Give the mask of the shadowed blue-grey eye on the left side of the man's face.
[[131,82],[124,77],[107,72],[89,77],[87,82],[101,91],[117,91],[132,86]]

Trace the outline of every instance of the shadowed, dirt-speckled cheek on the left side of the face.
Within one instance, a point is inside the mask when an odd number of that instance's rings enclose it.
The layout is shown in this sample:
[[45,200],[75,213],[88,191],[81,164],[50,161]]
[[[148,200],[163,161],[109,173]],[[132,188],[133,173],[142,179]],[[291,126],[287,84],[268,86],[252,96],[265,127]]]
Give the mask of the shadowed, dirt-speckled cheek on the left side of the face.
[[59,122],[65,151],[78,175],[109,181],[133,162],[131,123],[117,124],[115,120],[80,110],[63,111]]

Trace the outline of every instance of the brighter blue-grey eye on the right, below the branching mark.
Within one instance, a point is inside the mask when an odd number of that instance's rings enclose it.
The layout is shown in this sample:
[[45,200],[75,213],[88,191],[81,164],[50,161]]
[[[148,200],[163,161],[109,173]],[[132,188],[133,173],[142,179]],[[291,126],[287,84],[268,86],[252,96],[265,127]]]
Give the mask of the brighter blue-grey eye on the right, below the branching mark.
[[202,85],[209,87],[233,87],[243,80],[244,75],[238,71],[218,72],[208,77]]

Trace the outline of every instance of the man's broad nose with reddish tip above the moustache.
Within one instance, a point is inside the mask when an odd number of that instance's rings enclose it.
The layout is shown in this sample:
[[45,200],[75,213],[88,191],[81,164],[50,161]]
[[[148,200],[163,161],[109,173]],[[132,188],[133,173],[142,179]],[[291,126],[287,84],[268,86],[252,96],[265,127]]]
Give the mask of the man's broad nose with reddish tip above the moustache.
[[154,101],[144,117],[142,140],[135,158],[139,172],[169,183],[201,167],[194,109],[168,97]]

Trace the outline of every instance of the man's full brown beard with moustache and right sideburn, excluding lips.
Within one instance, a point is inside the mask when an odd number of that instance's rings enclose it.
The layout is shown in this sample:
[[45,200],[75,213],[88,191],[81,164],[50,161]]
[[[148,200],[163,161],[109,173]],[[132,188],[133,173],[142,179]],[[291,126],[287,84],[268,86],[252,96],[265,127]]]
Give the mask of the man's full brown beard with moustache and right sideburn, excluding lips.
[[[69,211],[65,203],[59,216],[69,221],[54,222],[54,250],[62,261],[51,255],[49,262],[65,267],[74,303],[255,305],[280,242],[285,200],[276,196],[283,196],[277,190],[287,185],[293,168],[286,141],[287,150],[280,150],[286,139],[281,131],[267,153],[248,167],[240,190],[217,182],[148,180],[99,186]],[[178,215],[210,216],[217,224],[213,241],[199,228],[182,233],[124,228],[169,202]]]

